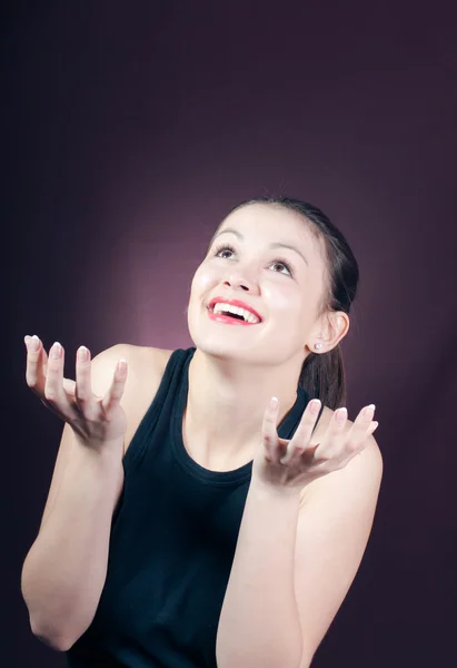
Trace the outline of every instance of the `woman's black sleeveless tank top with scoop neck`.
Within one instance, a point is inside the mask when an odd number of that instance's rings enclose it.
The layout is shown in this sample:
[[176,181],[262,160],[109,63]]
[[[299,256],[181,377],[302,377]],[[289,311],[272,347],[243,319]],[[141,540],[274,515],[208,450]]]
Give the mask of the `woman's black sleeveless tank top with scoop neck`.
[[[195,351],[171,353],[122,460],[105,586],[91,625],[66,651],[68,668],[217,668],[219,615],[252,460],[210,471],[187,452],[182,416]],[[298,387],[279,436],[292,438],[308,401]]]

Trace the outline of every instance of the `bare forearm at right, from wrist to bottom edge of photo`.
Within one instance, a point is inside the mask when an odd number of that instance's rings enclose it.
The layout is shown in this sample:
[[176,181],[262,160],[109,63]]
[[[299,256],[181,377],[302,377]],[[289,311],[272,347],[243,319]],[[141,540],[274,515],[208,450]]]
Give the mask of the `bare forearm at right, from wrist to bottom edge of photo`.
[[218,668],[298,668],[302,640],[294,590],[300,492],[251,481],[219,619]]

